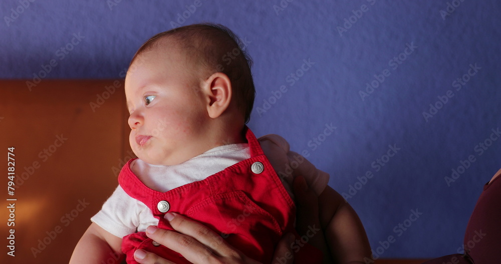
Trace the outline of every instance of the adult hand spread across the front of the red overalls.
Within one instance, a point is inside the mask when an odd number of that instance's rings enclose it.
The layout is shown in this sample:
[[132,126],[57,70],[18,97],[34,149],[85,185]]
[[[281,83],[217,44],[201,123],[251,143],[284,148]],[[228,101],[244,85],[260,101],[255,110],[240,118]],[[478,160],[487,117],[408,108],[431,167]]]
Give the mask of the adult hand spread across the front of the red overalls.
[[[197,221],[176,213],[166,213],[165,219],[170,222],[172,228],[177,232],[150,225],[146,229],[146,235],[156,242],[181,253],[192,263],[259,263],[229,245],[221,236]],[[290,248],[293,241],[294,235],[292,234],[286,234],[282,237],[275,250],[274,263],[279,263],[279,258],[287,259],[287,262],[285,262],[287,264],[293,263],[293,252]],[[141,264],[173,263],[142,249],[136,250],[134,258]]]

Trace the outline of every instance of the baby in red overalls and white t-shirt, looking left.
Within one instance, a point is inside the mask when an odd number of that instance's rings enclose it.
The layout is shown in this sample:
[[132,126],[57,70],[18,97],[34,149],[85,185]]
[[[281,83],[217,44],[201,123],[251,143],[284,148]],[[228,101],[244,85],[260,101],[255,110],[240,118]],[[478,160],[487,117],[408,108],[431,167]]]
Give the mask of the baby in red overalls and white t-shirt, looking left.
[[[329,175],[290,151],[282,137],[256,139],[245,125],[255,88],[252,62],[239,43],[227,28],[203,24],[157,34],[137,51],[125,94],[138,159],[122,168],[120,185],[91,218],[70,263],[109,263],[113,256],[137,263],[139,248],[189,263],[145,235],[149,225],[172,230],[167,212],[203,223],[265,263],[286,232],[298,238],[291,244],[298,262],[370,257],[360,220],[327,185]],[[299,175],[319,195],[321,221],[302,238],[291,191]],[[305,243],[316,230],[327,241],[324,252]]]

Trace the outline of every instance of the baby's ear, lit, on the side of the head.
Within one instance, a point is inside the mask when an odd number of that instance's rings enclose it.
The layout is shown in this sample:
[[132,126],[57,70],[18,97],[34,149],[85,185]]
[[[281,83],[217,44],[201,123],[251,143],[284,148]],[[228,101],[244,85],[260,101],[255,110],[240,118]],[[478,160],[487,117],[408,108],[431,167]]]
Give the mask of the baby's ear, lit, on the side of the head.
[[211,118],[217,118],[231,102],[231,81],[224,73],[214,73],[205,81],[203,92],[207,113]]

